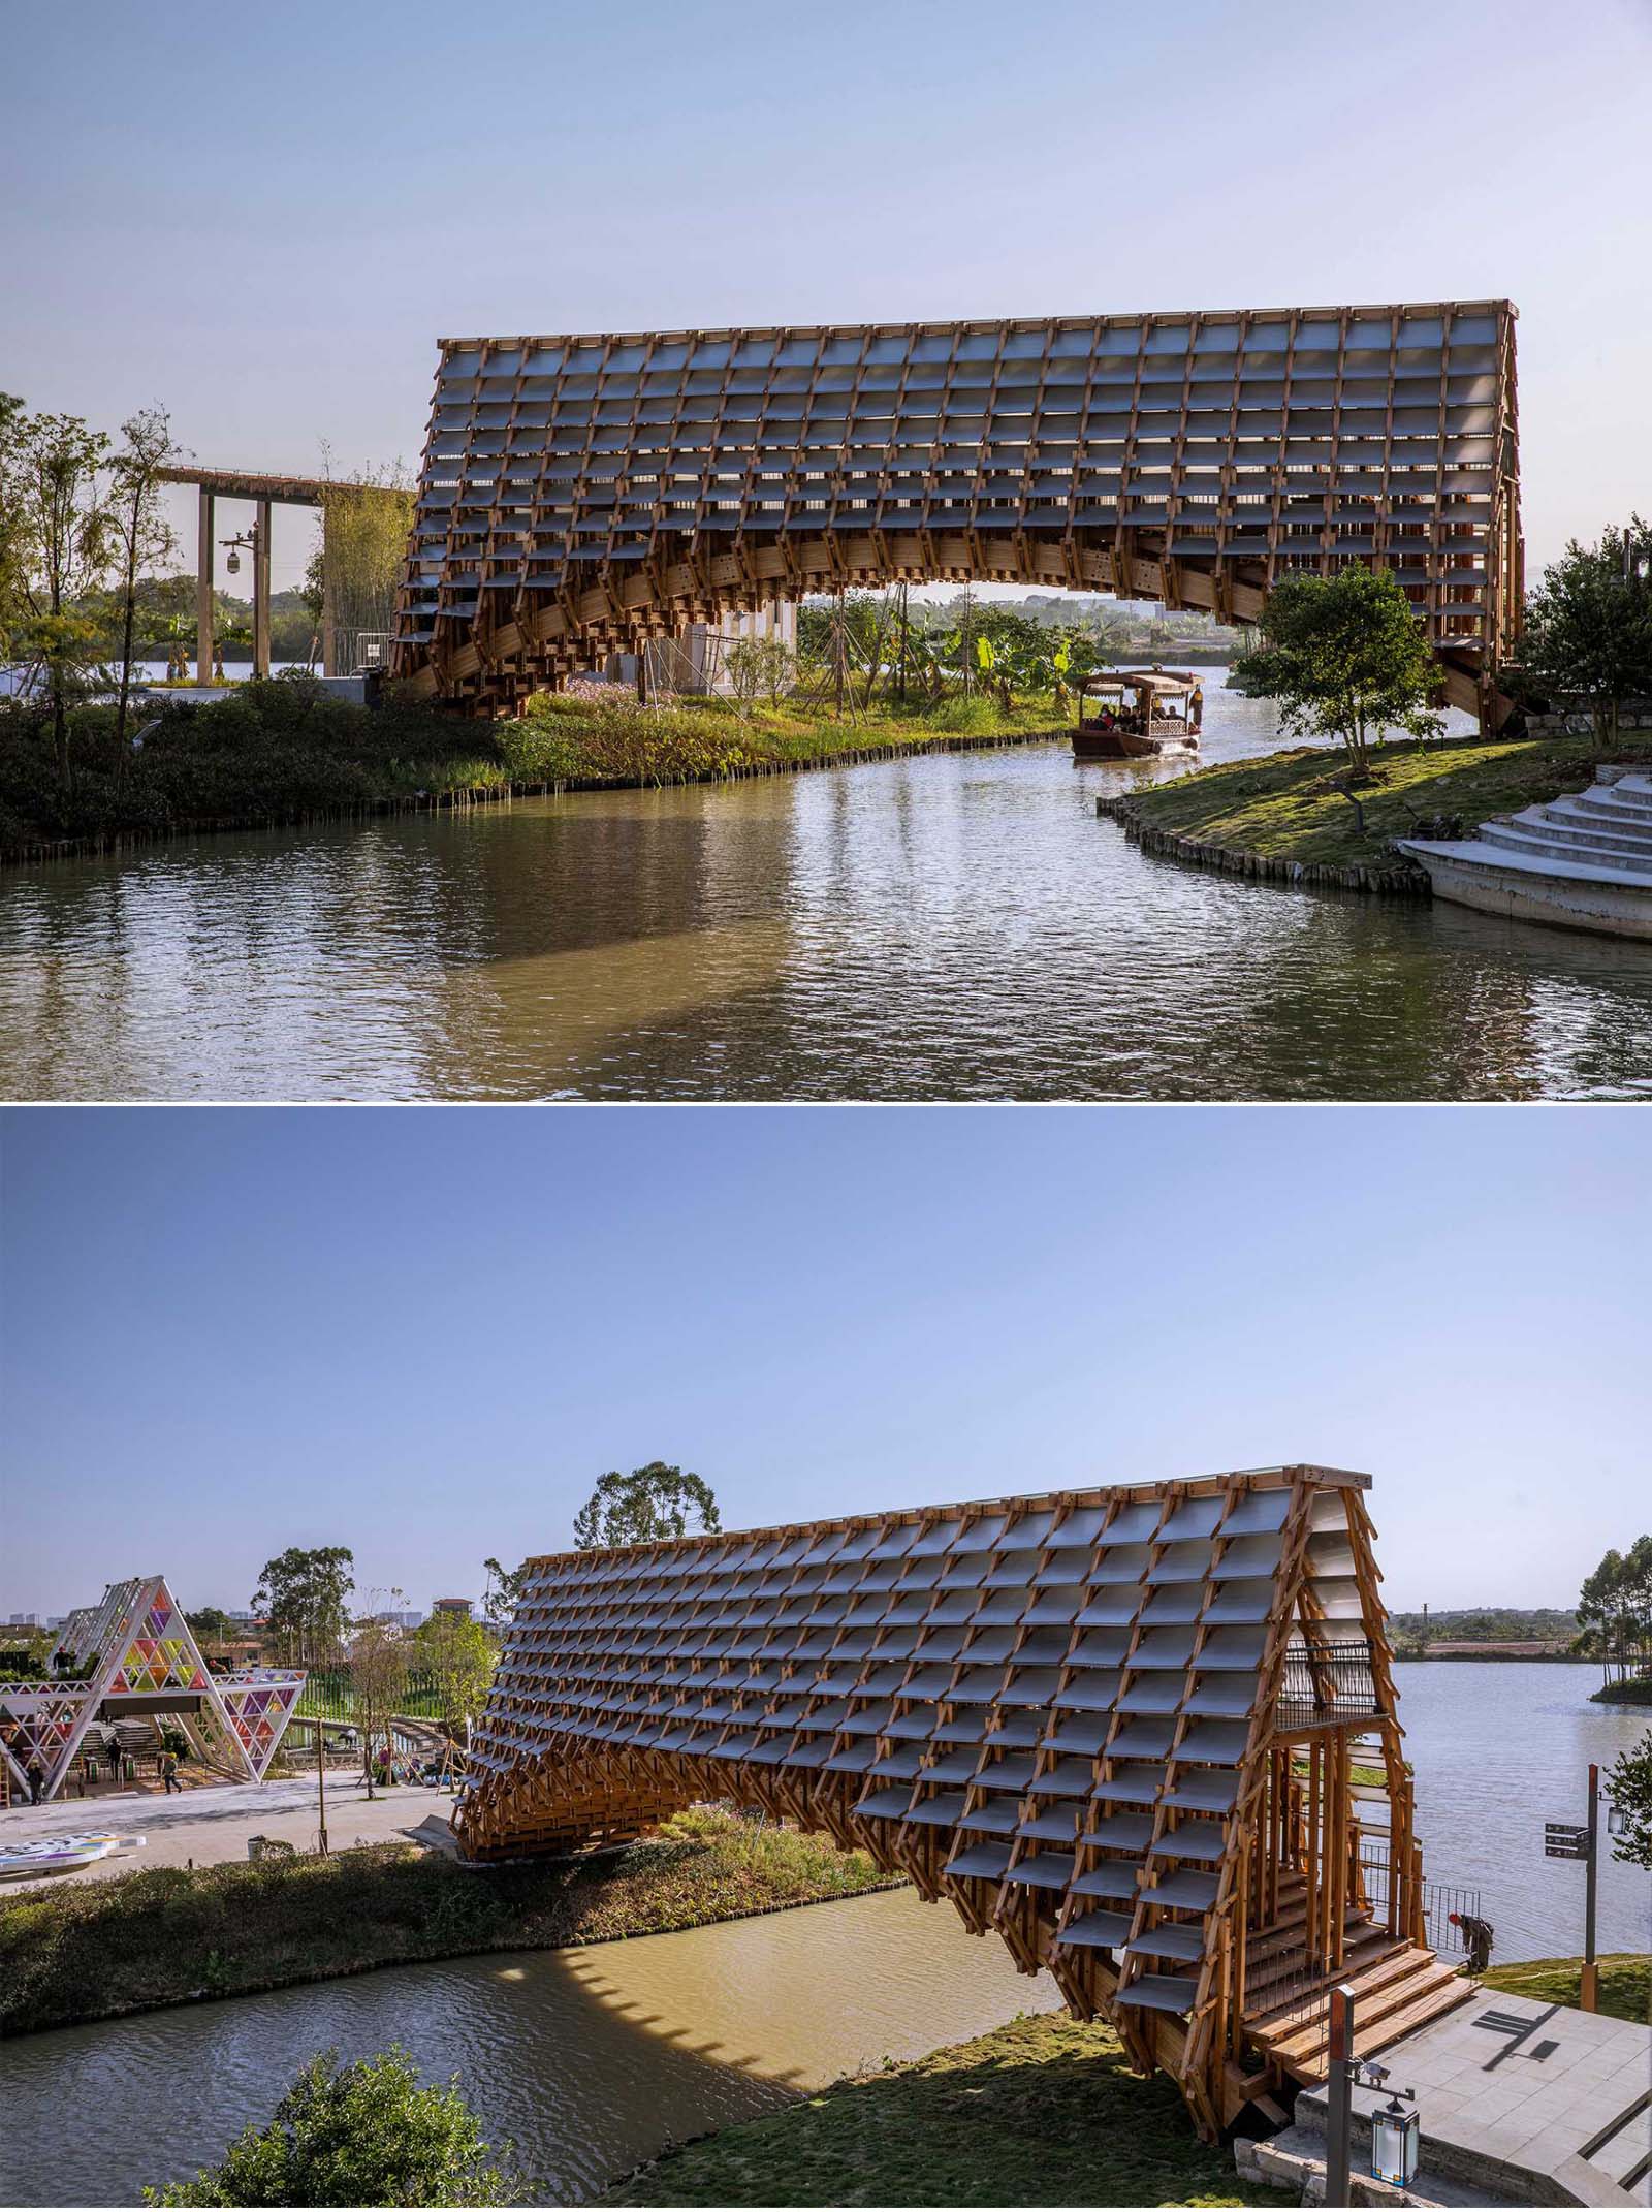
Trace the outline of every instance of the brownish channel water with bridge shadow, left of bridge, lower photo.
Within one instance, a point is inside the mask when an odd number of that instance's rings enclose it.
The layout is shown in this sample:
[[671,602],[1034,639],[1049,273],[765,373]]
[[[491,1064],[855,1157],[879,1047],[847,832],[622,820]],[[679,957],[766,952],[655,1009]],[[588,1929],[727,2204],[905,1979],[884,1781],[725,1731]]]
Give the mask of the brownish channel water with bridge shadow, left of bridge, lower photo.
[[672,2141],[1053,2004],[1002,1944],[887,1891],[142,2013],[4,2046],[0,2201],[137,2203],[265,2121],[316,2051],[402,2044],[425,2079],[458,2075],[537,2201],[575,2203]]

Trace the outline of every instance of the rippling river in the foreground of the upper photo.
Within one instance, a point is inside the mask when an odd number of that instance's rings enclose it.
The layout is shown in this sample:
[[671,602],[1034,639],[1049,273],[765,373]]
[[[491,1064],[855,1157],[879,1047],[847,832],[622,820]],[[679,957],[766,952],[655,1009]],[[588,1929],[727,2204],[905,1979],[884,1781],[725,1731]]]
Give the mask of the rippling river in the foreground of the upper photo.
[[[1278,745],[1212,684],[1205,761]],[[1064,743],[0,874],[18,1099],[1652,1093],[1645,947],[1154,860]]]

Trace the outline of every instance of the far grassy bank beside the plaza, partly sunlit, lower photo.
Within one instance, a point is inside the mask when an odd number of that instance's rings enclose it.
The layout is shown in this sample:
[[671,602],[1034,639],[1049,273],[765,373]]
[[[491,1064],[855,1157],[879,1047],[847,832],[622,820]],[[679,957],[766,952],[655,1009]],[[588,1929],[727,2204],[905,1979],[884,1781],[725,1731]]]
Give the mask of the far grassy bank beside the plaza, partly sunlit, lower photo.
[[398,1843],[153,1867],[0,1898],[0,2035],[409,1960],[657,1936],[876,1887],[860,1851],[714,1812],[575,1865],[471,1871]]

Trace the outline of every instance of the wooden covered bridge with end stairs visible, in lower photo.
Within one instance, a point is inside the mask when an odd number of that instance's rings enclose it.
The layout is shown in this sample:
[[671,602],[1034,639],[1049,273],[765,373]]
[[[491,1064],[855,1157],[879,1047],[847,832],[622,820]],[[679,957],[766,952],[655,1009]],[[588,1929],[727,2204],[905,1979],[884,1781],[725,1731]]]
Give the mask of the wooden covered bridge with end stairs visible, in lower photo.
[[[1365,1475],[1276,1467],[531,1562],[469,1856],[732,1798],[1048,1966],[1214,2137],[1471,1993],[1424,1940]],[[1387,2024],[1387,2028],[1384,2028]]]

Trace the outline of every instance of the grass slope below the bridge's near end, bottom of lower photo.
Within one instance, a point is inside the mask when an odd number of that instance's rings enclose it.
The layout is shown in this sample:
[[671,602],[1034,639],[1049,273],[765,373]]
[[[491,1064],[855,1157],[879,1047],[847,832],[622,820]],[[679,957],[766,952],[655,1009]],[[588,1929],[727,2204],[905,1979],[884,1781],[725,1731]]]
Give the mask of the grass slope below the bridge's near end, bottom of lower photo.
[[1283,2205],[1192,2130],[1165,2075],[1062,2013],[836,2081],[668,2152],[624,2205]]

